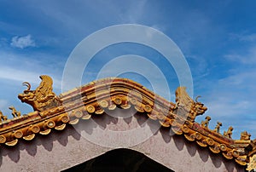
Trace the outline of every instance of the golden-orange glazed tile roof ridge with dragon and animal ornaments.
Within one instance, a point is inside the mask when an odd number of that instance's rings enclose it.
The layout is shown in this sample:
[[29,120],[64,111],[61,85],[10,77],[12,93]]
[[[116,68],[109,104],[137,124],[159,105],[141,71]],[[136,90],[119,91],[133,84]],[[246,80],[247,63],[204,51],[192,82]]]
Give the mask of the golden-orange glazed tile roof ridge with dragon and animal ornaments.
[[40,76],[42,82],[37,89],[27,89],[18,98],[31,105],[34,112],[20,115],[11,106],[14,118],[7,119],[0,113],[0,144],[15,146],[21,139],[32,140],[36,135],[49,135],[52,129],[62,130],[67,125],[87,120],[91,116],[103,114],[116,108],[135,108],[152,120],[158,121],[163,128],[170,128],[176,135],[194,141],[213,153],[221,153],[224,158],[234,159],[240,165],[255,167],[256,141],[251,140],[246,131],[240,140],[232,139],[230,127],[219,133],[222,123],[209,129],[210,117],[201,123],[195,118],[207,111],[207,107],[197,99],[192,100],[184,87],[176,90],[176,102],[172,103],[144,88],[143,85],[125,78],[109,77],[72,89],[61,95],[52,92],[52,79]]

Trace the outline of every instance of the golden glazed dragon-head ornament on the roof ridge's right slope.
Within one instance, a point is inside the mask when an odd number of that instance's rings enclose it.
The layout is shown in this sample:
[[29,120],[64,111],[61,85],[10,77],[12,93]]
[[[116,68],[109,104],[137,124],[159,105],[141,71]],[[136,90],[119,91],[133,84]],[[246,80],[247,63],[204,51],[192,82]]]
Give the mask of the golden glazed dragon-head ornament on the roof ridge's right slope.
[[188,115],[191,122],[195,121],[195,117],[207,111],[207,107],[201,102],[195,101],[189,97],[185,87],[178,87],[175,92],[176,95],[176,108],[182,110],[182,115]]

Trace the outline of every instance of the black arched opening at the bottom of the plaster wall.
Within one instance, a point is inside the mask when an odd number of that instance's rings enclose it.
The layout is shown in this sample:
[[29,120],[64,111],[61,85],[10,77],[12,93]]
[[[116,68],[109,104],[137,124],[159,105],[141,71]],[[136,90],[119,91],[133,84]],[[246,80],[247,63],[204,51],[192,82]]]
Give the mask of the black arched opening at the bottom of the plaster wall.
[[99,157],[80,163],[63,172],[173,172],[172,169],[155,162],[141,152],[130,149],[115,149]]

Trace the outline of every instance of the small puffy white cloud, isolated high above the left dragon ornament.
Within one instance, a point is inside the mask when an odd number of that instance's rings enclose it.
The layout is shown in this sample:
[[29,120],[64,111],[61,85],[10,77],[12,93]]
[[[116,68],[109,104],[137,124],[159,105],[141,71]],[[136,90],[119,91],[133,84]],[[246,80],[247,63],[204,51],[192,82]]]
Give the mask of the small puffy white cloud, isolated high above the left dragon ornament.
[[20,49],[25,49],[27,47],[35,47],[36,43],[34,40],[32,40],[31,35],[27,35],[25,37],[18,37],[15,36],[12,38],[12,43],[10,43],[11,46],[20,48]]

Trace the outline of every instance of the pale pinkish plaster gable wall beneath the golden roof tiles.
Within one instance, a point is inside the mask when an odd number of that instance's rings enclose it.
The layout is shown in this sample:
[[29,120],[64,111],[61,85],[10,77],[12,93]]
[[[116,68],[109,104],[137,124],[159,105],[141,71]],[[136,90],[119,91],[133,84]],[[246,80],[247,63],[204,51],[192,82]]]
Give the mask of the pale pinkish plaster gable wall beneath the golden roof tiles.
[[[14,147],[1,146],[0,171],[60,171],[120,147],[142,152],[174,171],[244,171],[235,161],[213,154],[183,135],[159,129],[158,122],[144,114],[126,110],[108,114],[37,135],[31,141],[19,140]],[[132,132],[127,134],[127,130]]]

